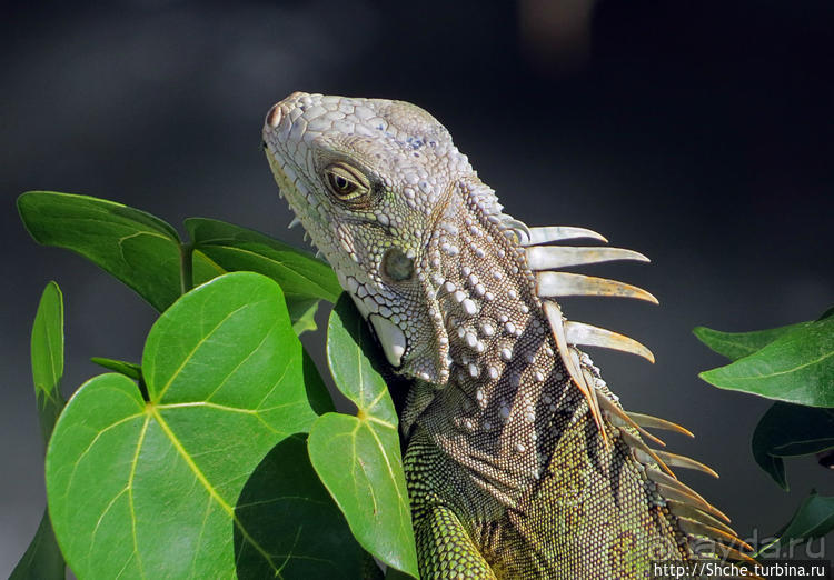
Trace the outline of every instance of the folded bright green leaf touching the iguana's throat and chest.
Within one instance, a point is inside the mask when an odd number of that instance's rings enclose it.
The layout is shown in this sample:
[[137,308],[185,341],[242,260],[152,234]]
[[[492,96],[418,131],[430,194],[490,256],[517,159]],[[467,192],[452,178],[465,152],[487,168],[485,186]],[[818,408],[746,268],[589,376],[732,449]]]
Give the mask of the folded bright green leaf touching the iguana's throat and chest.
[[367,326],[347,296],[330,314],[327,360],[356,417],[321,416],[310,431],[312,467],[359,543],[388,566],[418,578],[397,414],[374,360]]

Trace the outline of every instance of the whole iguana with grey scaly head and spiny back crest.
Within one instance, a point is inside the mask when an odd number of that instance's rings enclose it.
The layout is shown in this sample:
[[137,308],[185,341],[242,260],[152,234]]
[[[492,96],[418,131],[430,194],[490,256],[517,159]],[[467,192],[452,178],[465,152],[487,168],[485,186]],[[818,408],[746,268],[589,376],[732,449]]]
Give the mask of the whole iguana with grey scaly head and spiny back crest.
[[558,246],[607,240],[504,213],[448,131],[407,102],[295,92],[262,136],[292,224],[413,380],[400,426],[423,578],[649,578],[657,560],[748,560],[669,467],[714,472],[644,442],[659,442],[646,428],[688,431],[625,412],[578,347],[652,353],[555,301],[656,302],[562,271],[643,254]]

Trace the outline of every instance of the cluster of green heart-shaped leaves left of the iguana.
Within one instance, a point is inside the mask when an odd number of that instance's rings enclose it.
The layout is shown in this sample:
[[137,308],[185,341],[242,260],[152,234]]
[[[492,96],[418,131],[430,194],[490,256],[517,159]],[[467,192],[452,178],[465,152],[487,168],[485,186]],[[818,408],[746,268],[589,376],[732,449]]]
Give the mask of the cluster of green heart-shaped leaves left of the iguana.
[[370,334],[342,300],[328,358],[356,417],[334,412],[297,338],[341,292],[325,262],[217,220],[187,220],[183,242],[153,216],[86,196],[33,191],[18,208],[36,241],[89,258],[162,313],[141,364],[93,358],[116,373],[62,410],[63,307],[57,284],[44,290],[32,372],[49,513],[14,578],[62,578],[64,557],[91,578],[381,578],[370,556],[417,576]]

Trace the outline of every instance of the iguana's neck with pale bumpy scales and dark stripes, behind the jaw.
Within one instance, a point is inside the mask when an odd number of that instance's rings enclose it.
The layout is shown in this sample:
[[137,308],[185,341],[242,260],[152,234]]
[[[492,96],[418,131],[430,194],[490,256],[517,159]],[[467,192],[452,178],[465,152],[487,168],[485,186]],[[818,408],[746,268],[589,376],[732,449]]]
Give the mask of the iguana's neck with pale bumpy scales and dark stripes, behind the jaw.
[[[524,252],[505,219],[492,219],[492,194],[459,190],[435,228],[426,260],[440,263],[433,283],[448,340],[449,381],[418,383],[403,424],[428,431],[461,462],[473,454],[476,481],[515,503],[549,456],[538,437],[557,413],[582,404],[558,356]],[[535,460],[520,461],[533,454]],[[540,458],[540,459],[539,459]],[[496,469],[500,466],[499,469]]]

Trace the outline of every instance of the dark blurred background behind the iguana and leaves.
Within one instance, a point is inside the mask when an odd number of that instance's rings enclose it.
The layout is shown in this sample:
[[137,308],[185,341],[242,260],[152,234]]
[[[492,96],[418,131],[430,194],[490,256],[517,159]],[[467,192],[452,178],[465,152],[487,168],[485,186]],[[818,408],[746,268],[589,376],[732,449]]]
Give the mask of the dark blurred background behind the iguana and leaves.
[[[651,266],[588,269],[648,288],[659,308],[565,300],[657,357],[592,352],[624,404],[692,428],[673,451],[713,466],[687,482],[745,536],[770,534],[812,487],[781,491],[749,452],[768,402],[697,379],[723,363],[697,324],[752,330],[834,303],[834,3],[775,0],[518,3],[133,0],[6,4],[0,19],[0,576],[43,506],[29,330],[43,286],[66,299],[71,392],[91,356],[139,360],[153,311],[67,251],[39,248],[16,197],[118,200],[179,227],[224,219],[301,244],[260,150],[295,90],[413,101],[468,153],[508,212],[595,229]],[[316,351],[321,336],[308,337]],[[320,359],[319,359],[320,360]],[[828,550],[828,553],[834,551]]]

